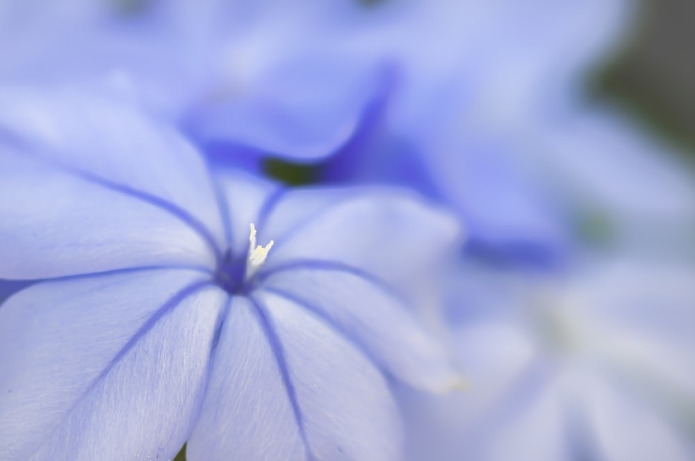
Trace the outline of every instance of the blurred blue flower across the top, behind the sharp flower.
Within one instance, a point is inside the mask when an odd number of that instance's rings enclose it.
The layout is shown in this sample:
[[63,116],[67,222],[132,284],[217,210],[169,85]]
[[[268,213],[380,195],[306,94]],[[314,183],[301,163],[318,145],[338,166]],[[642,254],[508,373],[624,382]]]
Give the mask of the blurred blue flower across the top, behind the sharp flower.
[[[471,251],[541,263],[562,255],[566,229],[514,158],[509,124],[568,99],[630,10],[623,0],[44,3],[9,3],[5,42],[25,44],[0,76],[108,75],[217,160],[258,169],[279,156],[322,162],[313,181],[414,187],[459,212]],[[17,17],[33,21],[17,30]]]

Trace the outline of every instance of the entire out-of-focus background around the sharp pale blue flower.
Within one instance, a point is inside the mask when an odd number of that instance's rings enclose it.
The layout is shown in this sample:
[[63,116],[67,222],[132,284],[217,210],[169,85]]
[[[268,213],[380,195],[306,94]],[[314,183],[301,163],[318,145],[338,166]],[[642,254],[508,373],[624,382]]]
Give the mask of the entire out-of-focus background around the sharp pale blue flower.
[[[230,3],[252,20],[213,24],[194,1],[0,0],[0,81],[104,74],[213,162],[396,183],[455,212],[469,239],[423,321],[470,386],[394,387],[413,460],[695,459],[695,2]],[[393,94],[379,50],[405,69]],[[259,115],[256,93],[218,112],[259,82],[301,123]]]

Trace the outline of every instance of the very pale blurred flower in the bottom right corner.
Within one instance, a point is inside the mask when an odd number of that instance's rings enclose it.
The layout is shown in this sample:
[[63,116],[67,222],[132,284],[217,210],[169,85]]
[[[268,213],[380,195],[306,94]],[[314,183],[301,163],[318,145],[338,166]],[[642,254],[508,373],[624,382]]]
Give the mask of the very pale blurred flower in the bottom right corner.
[[635,258],[552,277],[462,268],[449,318],[471,387],[400,393],[409,459],[692,459],[694,278]]

